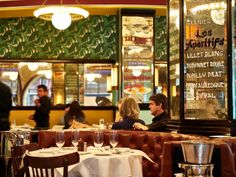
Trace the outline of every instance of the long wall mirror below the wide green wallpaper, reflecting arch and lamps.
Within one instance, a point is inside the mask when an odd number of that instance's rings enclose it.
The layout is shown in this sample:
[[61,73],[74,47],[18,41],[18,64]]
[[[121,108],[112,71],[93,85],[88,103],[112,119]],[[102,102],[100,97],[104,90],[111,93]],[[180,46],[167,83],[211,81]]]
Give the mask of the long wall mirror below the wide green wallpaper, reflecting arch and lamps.
[[112,64],[0,63],[0,79],[12,90],[14,106],[34,106],[37,86],[48,87],[53,105],[74,100],[85,106],[112,105]]

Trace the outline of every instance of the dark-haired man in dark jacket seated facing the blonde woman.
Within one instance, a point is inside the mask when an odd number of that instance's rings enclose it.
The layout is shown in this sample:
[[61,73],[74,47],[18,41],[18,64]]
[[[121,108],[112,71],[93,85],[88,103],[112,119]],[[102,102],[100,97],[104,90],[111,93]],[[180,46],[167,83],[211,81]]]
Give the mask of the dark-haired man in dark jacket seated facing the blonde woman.
[[149,125],[142,125],[140,123],[134,124],[134,129],[147,131],[169,131],[167,128],[168,114],[167,98],[163,94],[156,94],[149,98],[149,109],[151,114],[155,116],[152,123]]

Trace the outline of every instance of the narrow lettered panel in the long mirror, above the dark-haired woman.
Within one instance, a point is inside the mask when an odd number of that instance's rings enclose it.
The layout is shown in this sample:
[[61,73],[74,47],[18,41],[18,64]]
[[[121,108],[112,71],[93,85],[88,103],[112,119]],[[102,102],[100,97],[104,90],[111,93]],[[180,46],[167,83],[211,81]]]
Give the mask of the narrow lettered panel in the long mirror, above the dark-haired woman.
[[79,88],[78,88],[78,64],[66,64],[65,66],[65,92],[66,92],[66,103],[72,101],[78,101]]

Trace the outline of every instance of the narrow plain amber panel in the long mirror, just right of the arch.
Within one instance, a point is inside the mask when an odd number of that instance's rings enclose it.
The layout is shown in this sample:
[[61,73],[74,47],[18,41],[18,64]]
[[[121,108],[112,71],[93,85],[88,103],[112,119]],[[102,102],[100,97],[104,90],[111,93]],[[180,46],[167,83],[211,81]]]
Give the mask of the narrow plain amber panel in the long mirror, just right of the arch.
[[64,64],[54,63],[53,69],[53,103],[64,104]]

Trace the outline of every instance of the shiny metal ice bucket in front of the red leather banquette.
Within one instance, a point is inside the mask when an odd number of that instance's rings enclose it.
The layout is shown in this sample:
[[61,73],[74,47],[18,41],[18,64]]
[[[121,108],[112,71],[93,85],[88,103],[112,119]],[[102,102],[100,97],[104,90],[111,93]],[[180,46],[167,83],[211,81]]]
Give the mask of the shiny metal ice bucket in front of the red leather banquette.
[[181,146],[186,163],[211,163],[214,144],[204,141],[182,141]]

